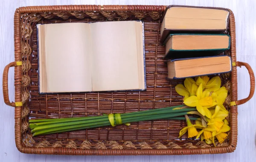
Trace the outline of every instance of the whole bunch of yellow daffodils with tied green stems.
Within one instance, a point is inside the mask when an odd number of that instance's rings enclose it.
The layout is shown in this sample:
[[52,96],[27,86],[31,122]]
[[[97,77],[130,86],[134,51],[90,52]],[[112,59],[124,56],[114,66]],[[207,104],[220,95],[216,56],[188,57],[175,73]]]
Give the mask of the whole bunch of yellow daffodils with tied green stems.
[[[185,105],[151,109],[141,112],[102,114],[100,116],[75,117],[61,119],[32,119],[29,127],[33,136],[76,131],[102,126],[116,126],[125,124],[129,126],[132,122],[172,119],[186,120],[187,127],[180,131],[181,137],[188,131],[188,137],[205,140],[208,144],[214,143],[215,137],[221,143],[227,138],[225,132],[230,130],[225,119],[228,111],[223,106],[227,98],[227,89],[221,87],[221,79],[216,76],[209,79],[208,76],[186,78],[183,84],[178,84],[175,90],[184,96]],[[199,117],[188,117],[195,114]],[[195,125],[190,120],[195,120]],[[198,132],[197,129],[201,129]]]

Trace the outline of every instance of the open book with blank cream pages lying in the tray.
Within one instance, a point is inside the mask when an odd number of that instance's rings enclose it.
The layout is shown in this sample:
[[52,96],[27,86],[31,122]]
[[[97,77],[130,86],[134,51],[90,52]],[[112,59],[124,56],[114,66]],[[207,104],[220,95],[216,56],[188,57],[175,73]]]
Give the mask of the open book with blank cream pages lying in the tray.
[[39,24],[39,92],[144,90],[141,21]]

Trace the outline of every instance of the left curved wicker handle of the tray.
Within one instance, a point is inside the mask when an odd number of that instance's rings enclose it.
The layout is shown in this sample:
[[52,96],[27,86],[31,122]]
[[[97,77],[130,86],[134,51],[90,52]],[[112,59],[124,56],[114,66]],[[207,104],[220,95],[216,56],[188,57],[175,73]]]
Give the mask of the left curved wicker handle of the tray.
[[22,106],[22,102],[10,102],[8,93],[8,72],[10,67],[21,66],[22,61],[11,62],[3,70],[3,100],[9,106]]

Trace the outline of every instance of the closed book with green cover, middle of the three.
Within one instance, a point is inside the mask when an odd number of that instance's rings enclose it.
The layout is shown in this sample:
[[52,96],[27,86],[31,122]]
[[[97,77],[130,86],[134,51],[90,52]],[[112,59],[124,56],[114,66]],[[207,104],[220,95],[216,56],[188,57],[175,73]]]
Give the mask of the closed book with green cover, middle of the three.
[[164,59],[214,56],[230,48],[226,34],[170,34]]

